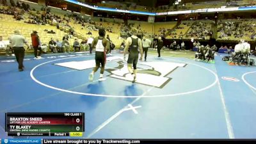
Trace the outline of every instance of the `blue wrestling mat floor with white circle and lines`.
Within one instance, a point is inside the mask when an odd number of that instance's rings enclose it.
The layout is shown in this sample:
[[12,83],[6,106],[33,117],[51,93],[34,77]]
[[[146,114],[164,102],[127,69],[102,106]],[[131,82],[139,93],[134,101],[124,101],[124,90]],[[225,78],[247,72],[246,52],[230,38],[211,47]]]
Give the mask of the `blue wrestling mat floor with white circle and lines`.
[[256,68],[193,60],[195,52],[150,50],[138,83],[123,54],[108,56],[92,82],[94,54],[0,60],[0,138],[6,112],[84,112],[83,138],[256,138]]

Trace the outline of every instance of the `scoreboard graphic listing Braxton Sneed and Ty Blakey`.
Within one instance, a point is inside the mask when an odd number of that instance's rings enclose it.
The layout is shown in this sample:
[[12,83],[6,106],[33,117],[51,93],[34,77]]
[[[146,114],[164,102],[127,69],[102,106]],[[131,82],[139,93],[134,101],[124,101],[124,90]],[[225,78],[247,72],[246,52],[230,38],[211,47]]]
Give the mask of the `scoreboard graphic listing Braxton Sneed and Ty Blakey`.
[[8,136],[83,136],[84,113],[6,113]]

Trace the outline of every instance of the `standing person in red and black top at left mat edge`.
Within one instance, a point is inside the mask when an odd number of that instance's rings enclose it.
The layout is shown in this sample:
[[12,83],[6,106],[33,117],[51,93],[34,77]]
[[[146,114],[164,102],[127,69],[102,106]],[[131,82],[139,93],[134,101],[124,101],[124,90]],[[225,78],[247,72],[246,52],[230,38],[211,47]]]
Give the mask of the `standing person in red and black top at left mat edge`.
[[[40,59],[42,49],[41,49],[41,47],[39,47],[40,40],[39,40],[39,36],[37,35],[37,31],[33,31],[33,33],[31,33],[31,41],[32,41],[33,49],[34,49],[34,55],[35,55],[34,59]],[[37,50],[39,50],[38,54],[37,54]]]

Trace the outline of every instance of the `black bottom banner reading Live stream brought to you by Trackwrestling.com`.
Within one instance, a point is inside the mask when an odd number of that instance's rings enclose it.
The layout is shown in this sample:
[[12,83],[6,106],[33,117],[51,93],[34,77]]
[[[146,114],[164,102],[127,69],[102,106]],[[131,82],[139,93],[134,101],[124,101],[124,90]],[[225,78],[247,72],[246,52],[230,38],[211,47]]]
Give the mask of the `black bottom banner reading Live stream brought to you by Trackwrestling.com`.
[[0,144],[161,144],[161,143],[256,143],[256,140],[128,140],[128,139],[2,139]]

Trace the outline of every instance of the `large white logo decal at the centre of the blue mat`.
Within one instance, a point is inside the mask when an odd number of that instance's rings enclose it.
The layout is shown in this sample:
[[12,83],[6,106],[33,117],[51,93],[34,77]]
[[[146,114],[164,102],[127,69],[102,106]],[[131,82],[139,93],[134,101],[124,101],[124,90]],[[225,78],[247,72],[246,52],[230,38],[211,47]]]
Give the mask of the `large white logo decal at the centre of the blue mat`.
[[[109,77],[122,79],[124,81],[132,81],[132,76],[129,74],[127,62],[122,60],[120,56],[111,56],[107,58],[105,70],[109,72]],[[109,68],[111,63],[117,64],[116,67]],[[55,63],[62,67],[74,68],[77,70],[86,70],[95,67],[95,60],[87,61],[70,61],[65,63]],[[185,67],[185,63],[174,63],[166,61],[138,62],[137,64],[137,81],[136,83],[145,84],[163,88],[172,78],[167,77],[179,67]]]

